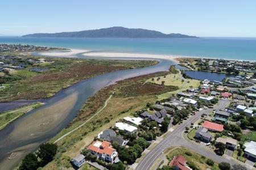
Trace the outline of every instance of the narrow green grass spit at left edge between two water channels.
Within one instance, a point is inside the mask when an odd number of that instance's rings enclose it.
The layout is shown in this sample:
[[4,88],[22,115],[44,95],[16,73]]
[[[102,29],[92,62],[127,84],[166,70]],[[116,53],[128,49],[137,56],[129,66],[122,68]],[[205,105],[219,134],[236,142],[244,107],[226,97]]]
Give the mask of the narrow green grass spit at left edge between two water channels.
[[0,114],[0,130],[5,128],[5,126],[15,121],[17,118],[19,118],[23,114],[25,114],[27,111],[30,111],[33,108],[38,108],[41,105],[43,105],[43,103],[36,102],[30,105],[26,105],[26,106],[11,110],[11,111],[6,111],[1,113]]

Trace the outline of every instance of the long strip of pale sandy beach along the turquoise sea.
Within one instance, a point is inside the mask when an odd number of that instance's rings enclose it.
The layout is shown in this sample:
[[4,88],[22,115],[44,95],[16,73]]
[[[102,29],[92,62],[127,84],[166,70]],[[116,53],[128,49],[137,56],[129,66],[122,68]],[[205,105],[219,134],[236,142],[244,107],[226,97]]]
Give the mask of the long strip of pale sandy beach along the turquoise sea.
[[128,52],[106,52],[106,51],[93,51],[86,49],[73,49],[70,48],[69,52],[67,50],[49,50],[47,52],[39,52],[42,56],[52,56],[52,57],[75,57],[76,54],[82,53],[84,57],[109,57],[112,58],[152,58],[152,59],[170,59],[172,61],[177,61],[177,58],[208,58],[208,59],[225,59],[228,61],[248,61],[248,62],[256,62],[256,60],[248,60],[248,59],[234,59],[234,58],[218,58],[218,57],[200,57],[200,56],[183,56],[176,54],[148,54],[148,53],[128,53]]

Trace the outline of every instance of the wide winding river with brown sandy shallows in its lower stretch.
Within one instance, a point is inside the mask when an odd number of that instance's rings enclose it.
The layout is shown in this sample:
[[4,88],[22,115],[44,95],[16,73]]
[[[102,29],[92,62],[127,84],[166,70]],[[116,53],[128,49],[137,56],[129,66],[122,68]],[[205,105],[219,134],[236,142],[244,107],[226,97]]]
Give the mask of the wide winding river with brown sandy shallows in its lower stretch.
[[[77,57],[79,55],[82,53],[77,54]],[[158,59],[158,61],[159,63],[154,66],[114,71],[82,80],[57,92],[55,96],[46,99],[42,107],[24,114],[6,126],[0,131],[0,169],[14,168],[24,155],[35,151],[40,143],[48,141],[64,129],[79,113],[88,97],[102,87],[134,76],[167,71],[170,65],[175,64],[174,61],[168,59]]]

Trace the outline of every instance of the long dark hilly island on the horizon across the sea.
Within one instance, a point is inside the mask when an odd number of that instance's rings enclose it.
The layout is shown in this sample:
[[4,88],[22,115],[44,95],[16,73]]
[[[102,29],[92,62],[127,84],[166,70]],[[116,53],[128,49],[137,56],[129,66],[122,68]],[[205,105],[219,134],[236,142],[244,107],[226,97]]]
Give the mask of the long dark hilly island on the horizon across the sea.
[[109,27],[75,32],[32,33],[22,37],[88,37],[88,38],[199,38],[180,33],[165,34],[142,28]]

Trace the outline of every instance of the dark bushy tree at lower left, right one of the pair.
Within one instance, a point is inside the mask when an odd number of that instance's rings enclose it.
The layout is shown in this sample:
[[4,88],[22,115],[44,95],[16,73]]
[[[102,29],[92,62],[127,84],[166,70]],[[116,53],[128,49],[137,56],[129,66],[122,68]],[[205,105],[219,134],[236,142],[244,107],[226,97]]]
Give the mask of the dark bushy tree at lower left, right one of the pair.
[[46,165],[53,160],[57,153],[57,145],[54,143],[43,143],[39,146],[38,157],[42,159],[42,164]]

